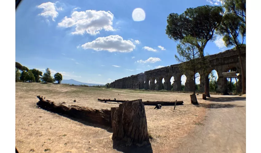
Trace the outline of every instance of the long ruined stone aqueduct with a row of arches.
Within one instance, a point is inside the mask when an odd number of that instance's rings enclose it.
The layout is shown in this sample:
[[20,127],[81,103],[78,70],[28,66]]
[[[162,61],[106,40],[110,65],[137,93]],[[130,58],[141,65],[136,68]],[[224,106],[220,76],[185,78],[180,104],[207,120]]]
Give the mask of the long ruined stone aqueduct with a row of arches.
[[[246,78],[246,47],[241,48],[241,53],[243,56],[243,67],[244,67],[244,76]],[[216,70],[218,74],[218,90],[220,93],[224,93],[227,88],[227,79],[223,77],[222,73],[228,72],[229,69],[237,68],[239,74],[238,79],[241,80],[241,68],[238,57],[238,50],[226,50],[224,52],[209,55],[210,60],[210,73],[212,70]],[[139,73],[136,75],[124,77],[122,79],[115,80],[111,83],[112,88],[122,88],[122,89],[147,89],[147,90],[165,90],[171,89],[170,79],[173,76],[173,90],[181,90],[181,76],[182,73],[179,68],[179,64],[170,65],[162,67],[159,69],[153,69],[145,71],[144,73]],[[200,72],[198,72],[200,74]],[[193,77],[188,76],[185,82],[185,91],[193,91]],[[162,86],[162,79],[164,78],[165,82]],[[155,85],[155,80],[157,80]],[[245,80],[246,82],[246,80]],[[245,86],[246,87],[246,86]],[[205,81],[204,77],[200,78],[200,92],[205,91]],[[241,81],[238,81],[238,91],[242,91]]]

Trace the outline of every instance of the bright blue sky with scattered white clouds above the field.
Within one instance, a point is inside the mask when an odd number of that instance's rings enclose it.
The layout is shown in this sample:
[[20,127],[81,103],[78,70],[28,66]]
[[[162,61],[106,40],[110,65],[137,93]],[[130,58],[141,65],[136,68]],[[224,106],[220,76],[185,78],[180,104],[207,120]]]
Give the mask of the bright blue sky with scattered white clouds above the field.
[[[220,4],[219,0],[23,0],[16,10],[15,60],[42,72],[48,67],[52,74],[62,73],[63,79],[99,84],[177,64],[177,42],[165,34],[167,16],[215,3]],[[135,8],[144,10],[145,19],[139,10],[132,17]],[[217,37],[205,52],[227,49]]]

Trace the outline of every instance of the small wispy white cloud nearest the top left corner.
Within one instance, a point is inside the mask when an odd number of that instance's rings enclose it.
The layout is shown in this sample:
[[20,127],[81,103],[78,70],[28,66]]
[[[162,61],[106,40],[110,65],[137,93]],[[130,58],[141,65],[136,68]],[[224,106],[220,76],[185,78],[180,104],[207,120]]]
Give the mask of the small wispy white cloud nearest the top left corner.
[[[38,9],[44,9],[42,11],[42,13],[40,13],[39,15],[48,18],[48,17],[52,17],[52,20],[55,21],[54,19],[58,16],[58,12],[56,10],[62,10],[62,8],[57,8],[55,6],[55,3],[52,2],[46,2],[46,3],[42,3],[40,5],[37,6]],[[47,21],[49,21],[47,19]]]

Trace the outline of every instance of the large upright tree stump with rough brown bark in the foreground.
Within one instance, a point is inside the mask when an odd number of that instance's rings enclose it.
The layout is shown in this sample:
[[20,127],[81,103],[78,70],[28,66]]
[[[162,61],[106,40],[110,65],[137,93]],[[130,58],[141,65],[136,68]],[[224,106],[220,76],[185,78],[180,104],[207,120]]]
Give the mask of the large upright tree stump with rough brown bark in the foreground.
[[128,146],[142,146],[149,140],[147,119],[142,99],[111,107],[112,140],[123,140]]

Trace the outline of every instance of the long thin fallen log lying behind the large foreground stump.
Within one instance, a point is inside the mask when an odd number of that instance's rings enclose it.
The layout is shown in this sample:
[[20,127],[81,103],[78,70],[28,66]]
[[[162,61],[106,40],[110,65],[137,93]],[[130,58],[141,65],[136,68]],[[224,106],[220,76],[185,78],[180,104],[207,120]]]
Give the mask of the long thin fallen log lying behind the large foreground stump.
[[[98,99],[100,102],[116,102],[116,103],[124,103],[128,102],[129,100],[113,100],[113,99]],[[142,101],[144,105],[158,105],[161,104],[162,106],[175,106],[175,101]],[[177,101],[176,105],[183,105],[183,101]]]

